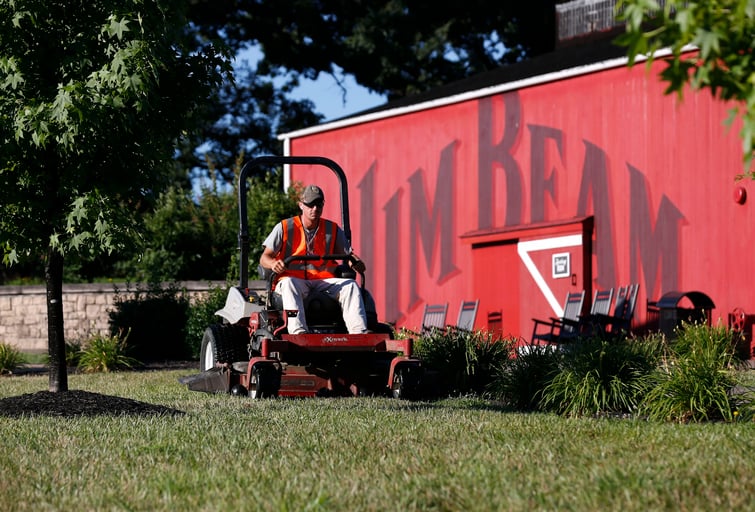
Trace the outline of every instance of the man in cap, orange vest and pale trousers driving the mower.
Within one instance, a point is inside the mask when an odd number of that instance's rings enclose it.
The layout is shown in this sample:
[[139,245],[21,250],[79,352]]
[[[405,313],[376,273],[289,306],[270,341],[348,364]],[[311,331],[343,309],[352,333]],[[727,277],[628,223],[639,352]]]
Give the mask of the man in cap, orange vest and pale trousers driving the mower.
[[325,195],[317,185],[308,185],[299,195],[301,215],[275,225],[262,243],[260,265],[277,274],[275,291],[281,295],[283,309],[297,310],[288,317],[289,334],[308,332],[304,299],[314,290],[323,291],[338,300],[343,320],[350,334],[367,332],[367,316],[359,285],[354,279],[335,277],[334,260],[291,261],[289,256],[348,254],[349,264],[364,272],[364,262],[352,251],[343,230],[333,221],[322,218]]

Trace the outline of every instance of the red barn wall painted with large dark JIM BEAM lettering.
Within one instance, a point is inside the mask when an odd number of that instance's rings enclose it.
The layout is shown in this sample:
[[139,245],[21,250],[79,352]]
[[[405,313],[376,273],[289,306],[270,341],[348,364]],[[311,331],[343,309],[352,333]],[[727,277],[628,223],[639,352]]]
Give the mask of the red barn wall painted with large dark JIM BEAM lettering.
[[[478,328],[503,311],[504,333],[528,339],[532,317],[557,314],[567,291],[635,282],[637,325],[646,300],[673,290],[710,296],[714,320],[755,312],[752,198],[733,198],[752,185],[735,180],[730,105],[707,92],[664,96],[661,65],[283,137],[288,154],[344,168],[353,243],[383,321],[416,328],[425,303],[448,302],[454,323],[463,299],[480,298]],[[335,178],[297,168],[290,178],[321,183],[325,215],[340,218]],[[580,233],[576,246],[527,249]],[[556,253],[571,257],[563,278],[552,276]]]

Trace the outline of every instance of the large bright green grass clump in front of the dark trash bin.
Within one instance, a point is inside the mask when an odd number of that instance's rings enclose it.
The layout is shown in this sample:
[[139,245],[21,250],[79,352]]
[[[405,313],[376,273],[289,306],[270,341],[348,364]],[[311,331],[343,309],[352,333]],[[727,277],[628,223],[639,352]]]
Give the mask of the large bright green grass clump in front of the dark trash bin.
[[659,421],[732,421],[732,332],[724,326],[682,324],[653,374],[641,412]]

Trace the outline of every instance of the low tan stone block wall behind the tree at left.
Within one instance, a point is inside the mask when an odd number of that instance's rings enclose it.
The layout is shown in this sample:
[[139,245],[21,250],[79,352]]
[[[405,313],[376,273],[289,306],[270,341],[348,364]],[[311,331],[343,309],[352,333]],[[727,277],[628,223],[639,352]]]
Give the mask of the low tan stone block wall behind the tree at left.
[[[180,284],[190,299],[207,293],[223,282],[190,281]],[[63,286],[63,318],[66,340],[91,334],[109,334],[109,312],[118,294],[132,297],[121,284],[70,284]],[[131,290],[136,285],[131,284]],[[145,289],[142,286],[140,289]],[[0,342],[23,352],[47,351],[47,292],[44,285],[0,286]]]

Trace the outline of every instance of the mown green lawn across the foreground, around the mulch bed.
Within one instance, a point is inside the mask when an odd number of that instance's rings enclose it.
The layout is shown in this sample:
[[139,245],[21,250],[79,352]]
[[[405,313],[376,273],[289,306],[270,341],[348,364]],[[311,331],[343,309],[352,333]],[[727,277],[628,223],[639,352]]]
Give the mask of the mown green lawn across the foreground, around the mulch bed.
[[[174,416],[0,417],[0,510],[734,510],[755,424],[506,412],[477,399],[252,401],[191,371],[70,375]],[[0,378],[0,398],[47,376]]]

